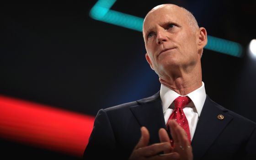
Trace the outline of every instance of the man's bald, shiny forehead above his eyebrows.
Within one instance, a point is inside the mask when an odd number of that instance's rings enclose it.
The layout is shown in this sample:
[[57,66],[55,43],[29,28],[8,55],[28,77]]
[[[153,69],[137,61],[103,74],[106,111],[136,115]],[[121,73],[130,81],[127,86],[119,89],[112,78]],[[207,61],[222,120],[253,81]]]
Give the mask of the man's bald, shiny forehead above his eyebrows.
[[165,22],[174,22],[178,24],[186,23],[186,14],[180,7],[175,5],[156,7],[149,11],[145,17],[143,32],[155,25],[162,25]]

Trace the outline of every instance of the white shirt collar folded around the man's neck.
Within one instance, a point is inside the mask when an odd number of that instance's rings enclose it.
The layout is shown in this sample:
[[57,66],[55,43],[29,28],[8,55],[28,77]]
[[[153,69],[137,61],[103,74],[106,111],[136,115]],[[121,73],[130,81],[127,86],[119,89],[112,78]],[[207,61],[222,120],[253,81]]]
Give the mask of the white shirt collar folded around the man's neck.
[[[162,107],[164,112],[171,106],[171,103],[178,96],[181,96],[181,95],[171,90],[170,88],[166,87],[165,85],[161,85],[160,98],[162,100]],[[203,109],[204,101],[206,99],[204,83],[202,82],[201,87],[197,88],[195,91],[190,92],[186,96],[188,96],[192,100],[192,102],[194,103],[194,106],[197,109],[198,116],[200,116]]]

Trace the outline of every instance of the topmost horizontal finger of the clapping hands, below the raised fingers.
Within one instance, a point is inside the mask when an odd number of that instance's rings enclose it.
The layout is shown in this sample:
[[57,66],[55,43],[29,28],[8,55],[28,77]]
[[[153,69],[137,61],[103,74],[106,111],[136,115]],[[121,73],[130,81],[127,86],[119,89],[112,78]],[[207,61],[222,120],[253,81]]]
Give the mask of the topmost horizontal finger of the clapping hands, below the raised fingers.
[[165,143],[159,143],[159,144],[152,144],[140,149],[137,149],[137,153],[139,155],[142,155],[144,157],[151,157],[158,155],[160,152],[170,150],[171,149],[171,144],[170,142],[165,142]]

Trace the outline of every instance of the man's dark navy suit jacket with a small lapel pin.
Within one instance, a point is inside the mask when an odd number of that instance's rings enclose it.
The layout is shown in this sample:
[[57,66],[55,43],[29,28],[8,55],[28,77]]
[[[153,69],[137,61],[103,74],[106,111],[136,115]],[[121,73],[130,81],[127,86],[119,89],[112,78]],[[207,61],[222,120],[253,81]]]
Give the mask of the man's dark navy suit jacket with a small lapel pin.
[[[218,115],[224,119],[218,119]],[[165,128],[159,92],[154,96],[101,109],[85,149],[86,160],[128,159],[140,138],[140,127],[159,143]],[[206,97],[192,139],[194,160],[256,160],[256,123],[231,112]]]

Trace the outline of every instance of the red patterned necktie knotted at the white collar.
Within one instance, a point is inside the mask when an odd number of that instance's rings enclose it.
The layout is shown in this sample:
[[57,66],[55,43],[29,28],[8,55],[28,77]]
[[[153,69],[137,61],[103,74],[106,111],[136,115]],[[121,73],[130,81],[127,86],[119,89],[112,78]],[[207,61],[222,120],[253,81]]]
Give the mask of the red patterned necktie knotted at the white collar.
[[[190,139],[190,131],[189,131],[189,125],[187,122],[187,118],[183,112],[183,108],[191,102],[191,99],[188,96],[179,96],[174,100],[175,108],[173,112],[171,113],[171,116],[168,119],[167,122],[167,131],[170,132],[168,123],[171,119],[175,119],[178,124],[181,125],[181,127],[187,132],[187,138],[189,142],[191,143]],[[172,142],[172,141],[171,141]]]

